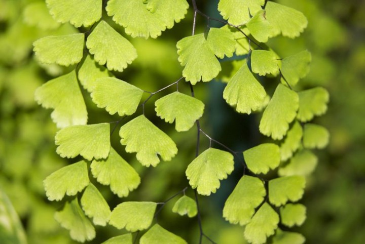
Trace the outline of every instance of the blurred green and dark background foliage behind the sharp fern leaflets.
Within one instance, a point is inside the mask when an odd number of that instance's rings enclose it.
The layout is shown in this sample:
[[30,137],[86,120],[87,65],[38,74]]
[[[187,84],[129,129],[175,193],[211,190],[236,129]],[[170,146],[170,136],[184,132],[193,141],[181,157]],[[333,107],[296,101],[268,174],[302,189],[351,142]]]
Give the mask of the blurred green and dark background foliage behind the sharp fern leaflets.
[[[219,17],[217,2],[198,1],[200,10],[212,17]],[[308,49],[312,53],[312,64],[310,73],[301,81],[302,87],[322,86],[331,94],[327,113],[315,121],[329,129],[330,145],[317,152],[319,164],[308,179],[301,201],[307,206],[307,220],[295,231],[305,235],[306,243],[362,244],[365,241],[365,3],[355,0],[277,2],[302,11],[309,25],[299,38],[276,37],[268,46],[281,57]],[[17,232],[17,226],[21,224],[28,243],[74,243],[53,218],[63,202],[49,202],[42,183],[69,161],[55,153],[57,129],[50,119],[50,110],[38,106],[33,94],[47,80],[75,67],[40,64],[32,55],[32,43],[42,36],[77,30],[54,22],[44,14],[44,7],[44,1],[0,0],[0,217],[12,216],[13,225],[4,228],[19,239],[24,238]],[[205,25],[206,21],[199,18],[197,31],[203,32]],[[181,75],[175,44],[191,34],[191,26],[190,9],[186,19],[163,32],[160,38],[131,40],[138,58],[117,76],[147,91],[156,91],[172,83]],[[122,28],[119,29],[123,33]],[[190,92],[186,84],[179,88],[187,94]],[[206,104],[202,127],[218,141],[243,151],[256,145],[261,138],[257,119],[235,113],[223,100],[223,89],[224,85],[219,81],[196,86],[197,97]],[[113,146],[142,178],[141,185],[127,199],[161,202],[188,185],[184,172],[194,158],[195,128],[176,133],[172,125],[156,117],[153,101],[163,95],[157,94],[147,103],[146,111],[147,117],[171,135],[178,145],[179,153],[171,162],[162,163],[155,169],[143,168],[133,154],[124,152],[117,133],[112,135]],[[84,98],[90,124],[118,119],[93,105],[88,93],[84,92]],[[208,146],[206,138],[202,138],[201,150]],[[239,164],[235,166],[233,174],[223,181],[216,194],[200,197],[204,232],[217,243],[245,243],[242,228],[232,226],[222,218],[224,201],[241,174]],[[123,200],[115,197],[107,187],[95,184],[111,208]],[[187,194],[193,196],[191,190]],[[173,214],[174,201],[168,202],[161,211],[159,223],[189,243],[196,243],[199,235],[196,219]],[[11,212],[12,206],[17,214]],[[0,231],[1,226],[0,221]],[[97,228],[96,231],[97,237],[92,243],[123,233],[114,227]],[[1,243],[4,240],[5,243],[17,243],[16,238],[6,239],[11,237],[3,233],[0,232]]]

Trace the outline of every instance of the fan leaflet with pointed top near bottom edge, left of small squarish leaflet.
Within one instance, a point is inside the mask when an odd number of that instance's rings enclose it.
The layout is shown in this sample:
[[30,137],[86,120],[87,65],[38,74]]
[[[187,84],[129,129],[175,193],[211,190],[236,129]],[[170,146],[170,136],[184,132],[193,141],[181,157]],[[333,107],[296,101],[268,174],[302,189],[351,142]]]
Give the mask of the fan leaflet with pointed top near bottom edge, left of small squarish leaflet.
[[266,243],[267,237],[275,233],[278,223],[279,215],[265,202],[246,225],[245,238],[253,244]]

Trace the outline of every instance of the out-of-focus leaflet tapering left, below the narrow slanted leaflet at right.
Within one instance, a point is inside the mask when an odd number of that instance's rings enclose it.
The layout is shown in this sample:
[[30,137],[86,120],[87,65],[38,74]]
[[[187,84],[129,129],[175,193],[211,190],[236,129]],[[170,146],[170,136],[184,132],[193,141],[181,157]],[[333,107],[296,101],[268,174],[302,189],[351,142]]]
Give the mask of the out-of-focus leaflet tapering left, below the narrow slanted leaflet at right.
[[317,156],[309,150],[301,150],[290,159],[289,164],[281,167],[279,176],[310,175],[318,163]]

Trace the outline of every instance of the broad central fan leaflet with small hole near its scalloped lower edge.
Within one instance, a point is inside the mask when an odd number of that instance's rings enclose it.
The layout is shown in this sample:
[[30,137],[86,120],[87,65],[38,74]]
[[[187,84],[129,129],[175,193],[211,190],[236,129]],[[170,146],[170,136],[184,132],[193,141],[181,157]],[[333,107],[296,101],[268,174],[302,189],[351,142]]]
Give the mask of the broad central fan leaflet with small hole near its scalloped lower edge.
[[146,167],[156,167],[162,160],[169,161],[177,153],[175,143],[144,115],[132,119],[119,131],[126,152],[137,152],[137,160]]

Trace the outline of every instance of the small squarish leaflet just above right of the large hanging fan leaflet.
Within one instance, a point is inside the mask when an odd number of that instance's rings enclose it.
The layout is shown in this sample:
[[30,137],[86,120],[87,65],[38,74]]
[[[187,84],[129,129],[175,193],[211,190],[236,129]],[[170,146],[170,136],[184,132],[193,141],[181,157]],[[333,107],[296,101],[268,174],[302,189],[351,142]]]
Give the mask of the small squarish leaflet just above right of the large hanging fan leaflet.
[[252,72],[259,75],[273,74],[279,72],[279,57],[272,51],[253,50],[251,53]]

